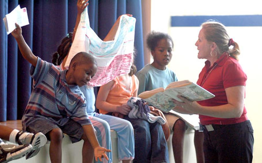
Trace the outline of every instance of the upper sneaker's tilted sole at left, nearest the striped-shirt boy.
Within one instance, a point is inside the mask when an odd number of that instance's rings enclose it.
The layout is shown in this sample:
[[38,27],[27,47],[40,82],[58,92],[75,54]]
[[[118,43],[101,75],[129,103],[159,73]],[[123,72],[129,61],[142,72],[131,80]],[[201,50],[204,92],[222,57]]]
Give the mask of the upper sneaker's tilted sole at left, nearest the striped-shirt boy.
[[47,139],[43,133],[36,133],[31,143],[33,146],[33,149],[29,154],[26,155],[26,159],[29,159],[35,156],[40,151],[40,148],[45,145],[46,142],[47,142]]

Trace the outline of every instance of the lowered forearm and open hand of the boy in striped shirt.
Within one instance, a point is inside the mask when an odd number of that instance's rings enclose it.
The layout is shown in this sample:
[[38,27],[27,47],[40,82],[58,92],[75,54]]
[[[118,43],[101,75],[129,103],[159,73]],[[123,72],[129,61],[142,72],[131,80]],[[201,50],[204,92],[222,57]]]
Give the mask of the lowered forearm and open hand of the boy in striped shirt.
[[83,130],[88,138],[89,142],[91,143],[93,149],[94,149],[94,156],[96,161],[98,161],[98,158],[100,161],[102,161],[102,158],[109,160],[105,152],[111,152],[111,150],[108,150],[106,148],[100,147],[98,140],[96,138],[96,134],[94,131],[94,128],[92,125],[83,125]]

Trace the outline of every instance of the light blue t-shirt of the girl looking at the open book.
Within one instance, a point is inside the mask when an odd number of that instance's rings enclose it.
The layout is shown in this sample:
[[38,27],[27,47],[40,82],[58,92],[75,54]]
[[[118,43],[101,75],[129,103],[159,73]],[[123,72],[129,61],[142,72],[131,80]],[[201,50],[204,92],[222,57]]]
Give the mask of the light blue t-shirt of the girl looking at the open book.
[[139,80],[138,94],[155,88],[166,88],[171,82],[177,81],[176,74],[168,67],[165,70],[159,70],[151,64],[145,65],[138,71],[136,77]]

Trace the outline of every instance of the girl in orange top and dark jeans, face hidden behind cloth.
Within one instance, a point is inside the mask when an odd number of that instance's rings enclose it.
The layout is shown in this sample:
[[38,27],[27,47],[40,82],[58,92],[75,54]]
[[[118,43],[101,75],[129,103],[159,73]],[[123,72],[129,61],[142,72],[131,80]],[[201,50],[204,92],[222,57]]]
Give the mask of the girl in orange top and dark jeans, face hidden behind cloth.
[[116,77],[100,87],[96,107],[102,114],[114,115],[130,121],[134,127],[136,162],[169,162],[168,148],[160,123],[149,123],[143,119],[130,119],[129,98],[137,97],[139,81],[134,75],[133,64],[129,74]]

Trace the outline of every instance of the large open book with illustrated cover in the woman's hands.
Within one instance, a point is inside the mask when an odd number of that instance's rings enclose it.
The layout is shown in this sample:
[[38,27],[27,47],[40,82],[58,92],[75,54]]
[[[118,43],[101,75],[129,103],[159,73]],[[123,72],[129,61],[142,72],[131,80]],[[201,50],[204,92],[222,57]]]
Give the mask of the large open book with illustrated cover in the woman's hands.
[[169,112],[176,106],[172,99],[183,102],[177,95],[181,95],[189,101],[207,100],[215,96],[197,84],[189,80],[183,80],[170,83],[166,89],[156,88],[151,91],[142,92],[138,97],[163,112]]

